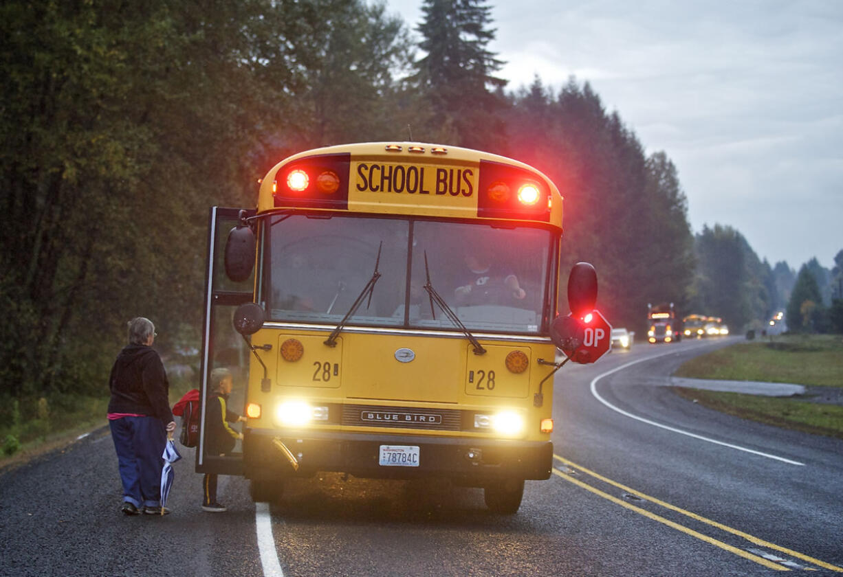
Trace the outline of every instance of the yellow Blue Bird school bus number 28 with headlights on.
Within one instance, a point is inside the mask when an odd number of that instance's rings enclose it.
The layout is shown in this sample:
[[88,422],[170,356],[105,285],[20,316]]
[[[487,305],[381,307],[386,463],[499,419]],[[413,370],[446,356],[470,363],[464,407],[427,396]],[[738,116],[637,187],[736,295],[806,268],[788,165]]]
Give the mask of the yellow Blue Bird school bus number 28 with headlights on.
[[[382,142],[282,160],[256,209],[211,209],[201,398],[228,368],[247,422],[228,455],[200,435],[196,471],[242,474],[260,501],[317,472],[448,478],[514,513],[524,480],[550,477],[556,347],[583,336],[556,314],[561,225],[556,186],[494,154]],[[590,264],[568,292],[593,309]]]

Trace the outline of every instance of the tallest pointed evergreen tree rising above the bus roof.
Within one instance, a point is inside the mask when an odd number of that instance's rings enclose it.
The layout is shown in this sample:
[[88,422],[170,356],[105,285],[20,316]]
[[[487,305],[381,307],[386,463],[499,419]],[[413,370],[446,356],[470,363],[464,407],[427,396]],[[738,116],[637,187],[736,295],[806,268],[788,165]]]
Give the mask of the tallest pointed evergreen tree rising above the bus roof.
[[493,149],[500,145],[506,81],[495,77],[502,61],[486,46],[495,37],[489,28],[491,8],[484,0],[425,0],[416,30],[425,52],[416,61],[415,80],[432,103],[432,126],[416,126],[425,140]]

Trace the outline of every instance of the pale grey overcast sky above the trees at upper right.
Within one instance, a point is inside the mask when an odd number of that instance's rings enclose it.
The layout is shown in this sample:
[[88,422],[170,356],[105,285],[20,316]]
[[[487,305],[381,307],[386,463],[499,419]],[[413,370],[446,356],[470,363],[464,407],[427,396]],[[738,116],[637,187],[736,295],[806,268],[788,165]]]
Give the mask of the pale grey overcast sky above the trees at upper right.
[[[415,29],[421,0],[386,0]],[[507,89],[588,81],[679,170],[694,232],[827,268],[843,249],[843,1],[491,0]],[[414,30],[414,34],[415,30]],[[573,194],[571,192],[567,194]]]

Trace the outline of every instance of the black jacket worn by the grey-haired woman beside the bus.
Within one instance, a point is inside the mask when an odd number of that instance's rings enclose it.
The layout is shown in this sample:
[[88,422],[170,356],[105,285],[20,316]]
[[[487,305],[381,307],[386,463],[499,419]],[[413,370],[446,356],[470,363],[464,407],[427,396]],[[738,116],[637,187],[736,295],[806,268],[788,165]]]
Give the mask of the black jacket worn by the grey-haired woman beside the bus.
[[173,420],[167,373],[152,347],[126,345],[111,368],[108,386],[109,413],[145,414],[158,417],[164,425]]

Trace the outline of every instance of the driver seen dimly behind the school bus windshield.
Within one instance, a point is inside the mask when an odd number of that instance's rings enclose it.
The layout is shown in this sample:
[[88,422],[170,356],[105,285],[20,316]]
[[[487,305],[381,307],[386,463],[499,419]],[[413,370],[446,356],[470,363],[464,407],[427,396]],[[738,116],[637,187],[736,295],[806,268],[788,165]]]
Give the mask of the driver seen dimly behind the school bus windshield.
[[460,280],[462,284],[454,290],[459,305],[505,304],[527,296],[518,284],[518,276],[493,262],[486,251],[470,252],[464,260],[468,270]]

